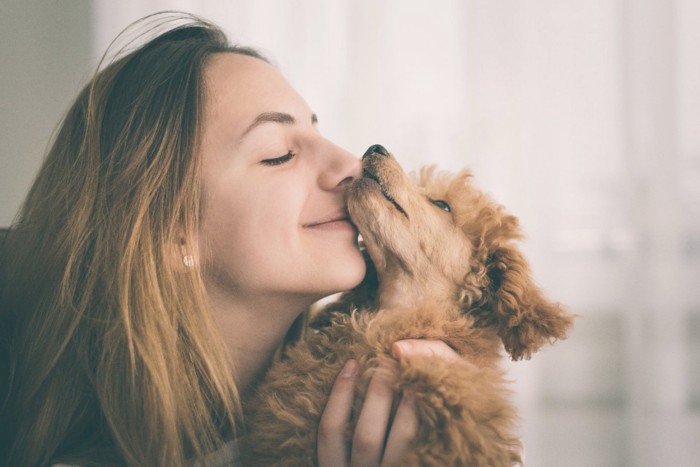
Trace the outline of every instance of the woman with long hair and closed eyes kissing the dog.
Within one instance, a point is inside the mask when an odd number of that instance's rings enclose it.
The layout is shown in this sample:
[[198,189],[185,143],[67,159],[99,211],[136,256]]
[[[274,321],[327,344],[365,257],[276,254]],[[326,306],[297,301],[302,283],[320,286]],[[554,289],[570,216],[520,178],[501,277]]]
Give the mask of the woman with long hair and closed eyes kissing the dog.
[[[358,159],[257,52],[155,21],[79,94],[4,242],[3,465],[231,461],[246,391],[313,302],[364,276],[344,201]],[[354,368],[319,464],[391,464],[410,400],[388,429],[391,376],[375,377],[346,446]]]

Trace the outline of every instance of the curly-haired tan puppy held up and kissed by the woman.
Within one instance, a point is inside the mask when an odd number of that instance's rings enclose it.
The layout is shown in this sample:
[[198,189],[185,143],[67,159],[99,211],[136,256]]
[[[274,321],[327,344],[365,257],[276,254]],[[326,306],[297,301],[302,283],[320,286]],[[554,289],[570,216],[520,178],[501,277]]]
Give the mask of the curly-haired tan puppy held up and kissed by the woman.
[[370,271],[328,306],[315,332],[287,349],[248,401],[246,465],[315,465],[328,394],[342,365],[356,359],[362,376],[350,439],[371,369],[394,361],[392,343],[406,338],[443,340],[463,361],[399,363],[395,400],[410,390],[420,420],[401,465],[520,462],[501,346],[513,360],[529,358],[564,338],[572,317],[542,296],[514,244],[516,218],[478,191],[469,172],[428,168],[415,184],[379,145],[367,151],[363,169],[348,210],[376,276]]

